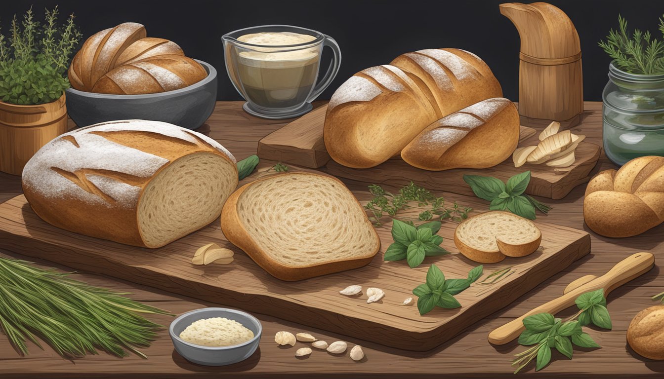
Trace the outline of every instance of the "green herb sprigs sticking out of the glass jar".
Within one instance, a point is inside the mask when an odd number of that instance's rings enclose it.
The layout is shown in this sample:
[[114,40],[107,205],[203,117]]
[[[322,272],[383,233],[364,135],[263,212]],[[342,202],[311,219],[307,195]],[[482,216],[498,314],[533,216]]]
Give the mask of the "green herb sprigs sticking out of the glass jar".
[[[659,31],[664,35],[662,18],[659,19]],[[623,71],[646,75],[664,73],[664,42],[653,38],[650,31],[643,33],[634,29],[633,33],[628,32],[627,20],[621,15],[618,15],[618,30],[611,29],[606,42],[600,40],[599,45]]]

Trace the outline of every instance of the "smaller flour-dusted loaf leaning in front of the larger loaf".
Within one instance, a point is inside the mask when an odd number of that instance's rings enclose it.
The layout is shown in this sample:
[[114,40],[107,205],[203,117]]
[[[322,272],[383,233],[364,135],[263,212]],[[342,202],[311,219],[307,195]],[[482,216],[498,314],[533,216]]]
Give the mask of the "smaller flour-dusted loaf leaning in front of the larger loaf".
[[519,144],[519,111],[505,98],[492,98],[435,121],[401,151],[408,164],[442,171],[493,167]]

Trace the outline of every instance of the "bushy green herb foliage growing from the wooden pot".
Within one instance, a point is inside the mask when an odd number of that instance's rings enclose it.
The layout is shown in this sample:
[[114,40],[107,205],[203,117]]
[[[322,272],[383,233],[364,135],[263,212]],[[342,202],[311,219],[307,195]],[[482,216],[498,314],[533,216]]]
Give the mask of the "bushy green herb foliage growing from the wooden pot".
[[74,15],[58,24],[58,7],[45,10],[43,23],[35,21],[32,8],[20,22],[14,15],[9,37],[0,29],[0,100],[31,105],[60,98],[69,88],[66,70],[81,37]]

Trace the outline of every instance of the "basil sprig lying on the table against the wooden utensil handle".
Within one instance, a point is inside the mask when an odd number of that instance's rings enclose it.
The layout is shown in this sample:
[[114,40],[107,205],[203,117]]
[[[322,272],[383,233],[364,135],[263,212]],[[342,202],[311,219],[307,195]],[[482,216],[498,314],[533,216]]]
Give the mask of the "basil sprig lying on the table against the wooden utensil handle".
[[515,374],[535,358],[535,371],[544,368],[551,360],[552,348],[572,359],[572,344],[584,348],[600,347],[588,333],[584,333],[582,326],[592,323],[600,328],[611,329],[604,289],[584,293],[575,302],[579,312],[564,322],[550,313],[537,313],[523,319],[526,330],[519,336],[519,344],[535,346],[515,354],[517,358],[512,362],[512,366],[517,366]]

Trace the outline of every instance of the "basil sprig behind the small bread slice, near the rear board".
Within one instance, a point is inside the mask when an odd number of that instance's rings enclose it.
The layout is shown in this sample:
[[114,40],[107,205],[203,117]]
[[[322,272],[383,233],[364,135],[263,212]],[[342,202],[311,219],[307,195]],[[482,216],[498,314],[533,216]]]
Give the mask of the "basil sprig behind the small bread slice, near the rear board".
[[509,178],[507,185],[500,179],[479,175],[463,175],[463,181],[468,183],[477,197],[491,202],[490,210],[509,210],[513,214],[535,220],[536,208],[544,214],[551,209],[523,193],[531,181],[530,171]]

